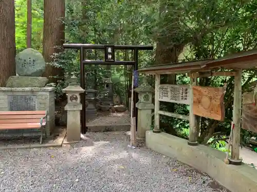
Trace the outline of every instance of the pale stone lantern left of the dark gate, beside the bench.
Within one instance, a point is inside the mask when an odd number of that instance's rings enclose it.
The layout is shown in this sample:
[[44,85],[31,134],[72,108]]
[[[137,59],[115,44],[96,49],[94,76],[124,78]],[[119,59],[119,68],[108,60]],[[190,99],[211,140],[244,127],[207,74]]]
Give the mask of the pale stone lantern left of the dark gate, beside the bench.
[[80,111],[80,93],[83,90],[78,84],[78,78],[73,75],[69,80],[69,86],[63,89],[68,96],[68,103],[65,105],[67,111],[67,142],[79,142],[81,138]]

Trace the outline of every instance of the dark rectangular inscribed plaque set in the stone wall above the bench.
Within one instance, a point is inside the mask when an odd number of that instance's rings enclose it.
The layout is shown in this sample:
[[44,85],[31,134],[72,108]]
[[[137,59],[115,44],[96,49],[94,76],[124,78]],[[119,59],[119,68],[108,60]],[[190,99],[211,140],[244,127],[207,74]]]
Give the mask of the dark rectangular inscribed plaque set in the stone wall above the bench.
[[9,111],[35,111],[35,95],[8,95]]

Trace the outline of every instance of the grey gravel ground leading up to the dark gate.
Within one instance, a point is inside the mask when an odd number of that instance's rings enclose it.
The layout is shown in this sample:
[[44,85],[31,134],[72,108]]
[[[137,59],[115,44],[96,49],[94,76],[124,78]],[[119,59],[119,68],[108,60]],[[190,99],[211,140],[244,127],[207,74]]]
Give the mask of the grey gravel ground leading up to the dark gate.
[[124,132],[89,133],[62,148],[0,151],[0,191],[226,191],[210,177],[145,147]]

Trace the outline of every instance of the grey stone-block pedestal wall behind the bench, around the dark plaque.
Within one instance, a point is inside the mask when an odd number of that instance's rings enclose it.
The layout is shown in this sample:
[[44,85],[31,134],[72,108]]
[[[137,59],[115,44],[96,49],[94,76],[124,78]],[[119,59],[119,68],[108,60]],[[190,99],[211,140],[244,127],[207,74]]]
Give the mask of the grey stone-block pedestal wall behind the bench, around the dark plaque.
[[[0,111],[10,111],[8,106],[9,95],[33,95],[36,98],[36,111],[47,110],[47,126],[48,135],[54,130],[55,124],[55,103],[54,88],[0,88]],[[0,131],[1,135],[38,135],[36,130],[8,130]]]

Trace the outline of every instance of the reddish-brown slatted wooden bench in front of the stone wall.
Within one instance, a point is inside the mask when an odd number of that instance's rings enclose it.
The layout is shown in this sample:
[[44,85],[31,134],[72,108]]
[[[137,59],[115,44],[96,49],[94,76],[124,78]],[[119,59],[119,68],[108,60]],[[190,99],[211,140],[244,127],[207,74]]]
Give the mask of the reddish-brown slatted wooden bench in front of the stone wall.
[[38,129],[46,134],[47,111],[0,111],[0,130]]

